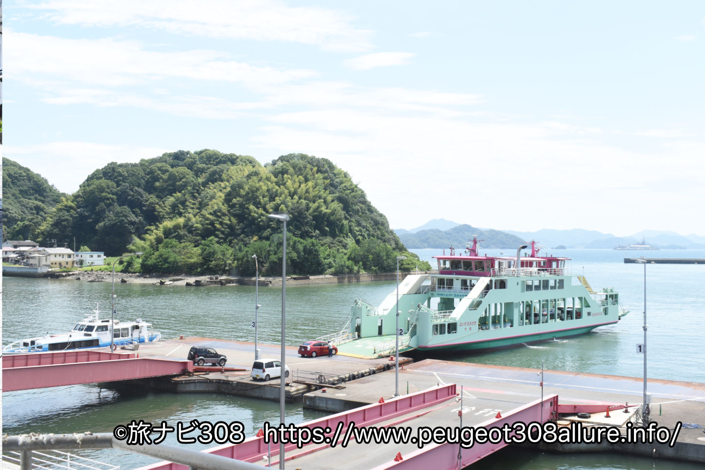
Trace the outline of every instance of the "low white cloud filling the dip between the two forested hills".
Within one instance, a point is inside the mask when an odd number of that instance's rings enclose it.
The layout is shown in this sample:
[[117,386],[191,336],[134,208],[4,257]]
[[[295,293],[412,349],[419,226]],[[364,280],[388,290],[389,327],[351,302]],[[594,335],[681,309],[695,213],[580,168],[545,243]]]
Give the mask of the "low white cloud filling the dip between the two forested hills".
[[71,193],[78,190],[88,175],[111,161],[136,162],[173,150],[93,142],[48,142],[33,145],[5,144],[3,154],[47,178],[49,184],[55,185],[59,191]]

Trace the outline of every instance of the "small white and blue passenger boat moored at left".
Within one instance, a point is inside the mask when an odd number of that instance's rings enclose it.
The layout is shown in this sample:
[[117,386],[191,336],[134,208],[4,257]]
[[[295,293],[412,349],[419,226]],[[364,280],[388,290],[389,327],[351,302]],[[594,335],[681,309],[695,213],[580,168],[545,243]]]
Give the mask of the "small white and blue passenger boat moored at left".
[[76,323],[68,333],[37,336],[12,342],[3,347],[3,354],[26,354],[28,352],[52,352],[85,350],[92,347],[110,345],[110,337],[114,333],[115,348],[119,345],[135,345],[141,342],[161,340],[161,333],[152,329],[152,323],[137,319],[135,321],[100,319],[99,310],[94,315]]

